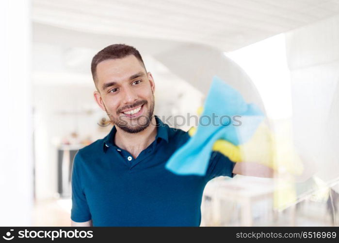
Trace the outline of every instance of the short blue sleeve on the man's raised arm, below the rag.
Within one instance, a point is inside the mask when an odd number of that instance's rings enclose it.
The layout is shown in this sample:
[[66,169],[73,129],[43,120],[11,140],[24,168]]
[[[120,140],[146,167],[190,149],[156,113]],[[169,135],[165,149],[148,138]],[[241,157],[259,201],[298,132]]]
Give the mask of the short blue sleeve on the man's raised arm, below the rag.
[[207,180],[211,180],[217,176],[228,176],[233,178],[233,168],[235,162],[230,160],[227,156],[224,156],[220,152],[213,151],[210,156],[209,166],[207,168],[206,177]]

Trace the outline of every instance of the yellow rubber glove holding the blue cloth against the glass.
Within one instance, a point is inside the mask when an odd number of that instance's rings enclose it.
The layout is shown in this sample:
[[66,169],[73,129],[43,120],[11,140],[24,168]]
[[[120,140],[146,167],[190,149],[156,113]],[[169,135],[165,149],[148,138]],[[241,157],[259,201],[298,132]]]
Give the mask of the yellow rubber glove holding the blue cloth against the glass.
[[[197,110],[201,115],[202,107]],[[191,127],[188,131],[192,137],[196,132],[196,127]],[[293,150],[289,142],[288,133],[281,132],[280,136],[272,133],[270,128],[262,122],[253,137],[239,146],[226,140],[218,139],[212,147],[213,151],[218,151],[234,162],[255,162],[274,169],[277,172],[289,172],[290,174],[301,174],[303,164],[299,156]],[[278,176],[274,178],[273,193],[274,209],[283,210],[296,202],[297,193],[294,178]]]

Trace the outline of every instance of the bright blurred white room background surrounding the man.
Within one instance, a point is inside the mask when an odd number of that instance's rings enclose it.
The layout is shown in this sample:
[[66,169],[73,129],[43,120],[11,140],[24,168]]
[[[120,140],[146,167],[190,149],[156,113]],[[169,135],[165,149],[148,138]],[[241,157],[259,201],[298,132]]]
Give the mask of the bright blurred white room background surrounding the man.
[[216,70],[258,94],[279,159],[302,157],[280,208],[274,178],[210,181],[202,226],[338,225],[339,0],[4,0],[0,18],[1,226],[70,226],[72,159],[112,128],[90,63],[114,43],[141,52],[155,114],[196,114]]

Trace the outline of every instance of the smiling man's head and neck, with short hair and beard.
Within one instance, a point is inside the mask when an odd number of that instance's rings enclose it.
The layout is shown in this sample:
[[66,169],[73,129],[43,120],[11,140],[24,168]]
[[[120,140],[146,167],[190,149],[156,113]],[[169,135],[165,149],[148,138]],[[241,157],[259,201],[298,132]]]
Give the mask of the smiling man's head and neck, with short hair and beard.
[[[112,56],[107,53],[110,51]],[[128,51],[131,53],[126,55]],[[156,124],[153,77],[146,72],[139,52],[132,51],[123,45],[107,47],[93,58],[92,74],[97,104],[118,131],[115,145],[136,158],[154,140],[157,131],[149,126]]]

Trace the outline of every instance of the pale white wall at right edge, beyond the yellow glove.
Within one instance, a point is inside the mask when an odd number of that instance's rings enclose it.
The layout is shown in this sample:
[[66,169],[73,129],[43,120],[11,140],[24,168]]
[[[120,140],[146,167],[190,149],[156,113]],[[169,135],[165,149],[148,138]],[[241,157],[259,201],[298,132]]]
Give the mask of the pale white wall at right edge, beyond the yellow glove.
[[325,181],[339,177],[339,16],[286,34],[293,130]]

